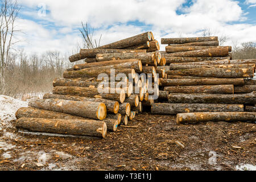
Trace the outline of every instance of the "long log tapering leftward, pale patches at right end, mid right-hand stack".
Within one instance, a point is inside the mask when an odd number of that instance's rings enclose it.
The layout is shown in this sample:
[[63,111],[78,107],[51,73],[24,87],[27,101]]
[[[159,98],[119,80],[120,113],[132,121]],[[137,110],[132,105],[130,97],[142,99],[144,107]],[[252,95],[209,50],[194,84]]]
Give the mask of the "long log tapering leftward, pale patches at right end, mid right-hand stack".
[[253,68],[193,68],[177,69],[167,72],[167,75],[198,76],[198,77],[217,77],[217,78],[242,78],[253,77]]

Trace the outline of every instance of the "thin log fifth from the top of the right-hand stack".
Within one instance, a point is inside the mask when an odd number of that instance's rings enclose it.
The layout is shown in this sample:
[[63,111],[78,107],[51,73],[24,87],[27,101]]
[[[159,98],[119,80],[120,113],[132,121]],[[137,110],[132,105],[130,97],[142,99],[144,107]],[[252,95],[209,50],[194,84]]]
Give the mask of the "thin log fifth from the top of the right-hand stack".
[[[199,61],[213,61],[213,60],[224,60],[224,59],[230,59],[230,57],[174,57],[170,54],[163,55],[164,58],[166,58],[166,64],[171,63],[193,63],[193,62],[199,62]],[[221,64],[221,63],[220,63]]]

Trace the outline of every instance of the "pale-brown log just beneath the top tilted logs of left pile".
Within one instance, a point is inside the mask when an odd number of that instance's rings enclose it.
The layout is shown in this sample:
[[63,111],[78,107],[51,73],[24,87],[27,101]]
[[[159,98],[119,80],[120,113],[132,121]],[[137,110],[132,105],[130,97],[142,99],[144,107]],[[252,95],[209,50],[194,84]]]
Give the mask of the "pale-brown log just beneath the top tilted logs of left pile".
[[97,61],[139,59],[142,65],[156,65],[154,53],[104,53],[96,55]]

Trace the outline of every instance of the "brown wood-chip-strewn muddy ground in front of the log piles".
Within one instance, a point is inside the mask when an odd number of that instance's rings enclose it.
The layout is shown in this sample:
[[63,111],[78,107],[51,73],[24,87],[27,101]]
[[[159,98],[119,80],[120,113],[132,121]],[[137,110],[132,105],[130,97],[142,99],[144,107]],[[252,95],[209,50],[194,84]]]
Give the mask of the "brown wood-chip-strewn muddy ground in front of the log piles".
[[139,114],[105,139],[0,130],[1,170],[236,170],[255,166],[255,123],[176,125],[174,115]]

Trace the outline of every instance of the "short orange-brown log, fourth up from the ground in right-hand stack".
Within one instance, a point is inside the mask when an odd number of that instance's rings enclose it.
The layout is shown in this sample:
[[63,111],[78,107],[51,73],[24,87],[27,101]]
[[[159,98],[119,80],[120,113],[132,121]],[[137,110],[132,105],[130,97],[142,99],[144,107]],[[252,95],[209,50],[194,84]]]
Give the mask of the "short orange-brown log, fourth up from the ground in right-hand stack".
[[233,85],[192,85],[192,86],[166,86],[169,93],[234,93]]

